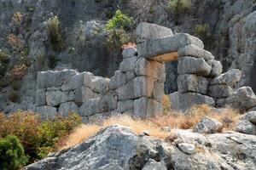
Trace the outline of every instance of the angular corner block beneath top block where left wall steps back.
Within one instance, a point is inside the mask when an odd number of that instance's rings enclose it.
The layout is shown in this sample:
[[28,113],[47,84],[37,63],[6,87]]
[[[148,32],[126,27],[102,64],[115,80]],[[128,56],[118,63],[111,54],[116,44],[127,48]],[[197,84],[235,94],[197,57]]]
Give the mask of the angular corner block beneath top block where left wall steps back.
[[81,87],[74,94],[74,101],[77,105],[82,105],[86,100],[96,98],[96,94],[90,88]]

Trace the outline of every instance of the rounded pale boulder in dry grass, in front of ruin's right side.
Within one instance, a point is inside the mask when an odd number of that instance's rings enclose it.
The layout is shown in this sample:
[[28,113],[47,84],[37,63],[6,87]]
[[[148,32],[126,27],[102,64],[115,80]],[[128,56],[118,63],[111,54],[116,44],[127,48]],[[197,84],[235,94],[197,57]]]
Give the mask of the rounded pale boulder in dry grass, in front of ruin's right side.
[[195,133],[218,133],[222,130],[223,124],[217,119],[204,117],[200,122],[196,123]]

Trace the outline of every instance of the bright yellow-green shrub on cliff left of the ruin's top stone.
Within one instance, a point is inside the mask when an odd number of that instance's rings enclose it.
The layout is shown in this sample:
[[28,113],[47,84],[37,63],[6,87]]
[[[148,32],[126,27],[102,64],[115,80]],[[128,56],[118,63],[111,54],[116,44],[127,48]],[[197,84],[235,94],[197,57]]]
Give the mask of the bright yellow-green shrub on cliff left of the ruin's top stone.
[[131,31],[136,22],[132,17],[123,14],[119,9],[115,12],[112,19],[108,20],[105,29],[112,31],[113,29],[123,29],[125,31]]

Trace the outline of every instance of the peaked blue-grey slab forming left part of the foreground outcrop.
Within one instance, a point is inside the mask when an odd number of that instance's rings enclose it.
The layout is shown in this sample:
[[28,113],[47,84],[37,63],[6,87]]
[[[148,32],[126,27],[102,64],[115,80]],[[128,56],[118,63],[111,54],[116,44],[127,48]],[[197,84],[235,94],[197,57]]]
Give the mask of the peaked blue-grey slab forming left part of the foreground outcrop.
[[129,169],[129,160],[136,154],[137,141],[137,134],[129,128],[114,125],[73,148],[51,154],[25,169]]

